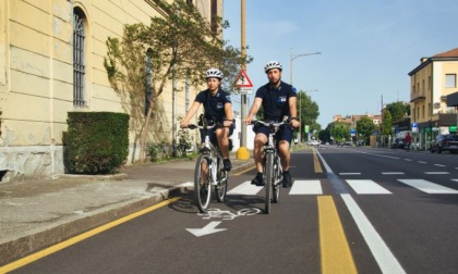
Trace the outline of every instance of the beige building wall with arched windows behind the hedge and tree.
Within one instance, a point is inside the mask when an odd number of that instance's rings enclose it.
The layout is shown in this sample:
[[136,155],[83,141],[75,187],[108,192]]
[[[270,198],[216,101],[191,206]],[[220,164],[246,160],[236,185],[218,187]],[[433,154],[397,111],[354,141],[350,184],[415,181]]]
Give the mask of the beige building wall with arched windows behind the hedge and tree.
[[[222,0],[193,0],[205,17],[222,16]],[[64,172],[62,136],[68,112],[125,112],[107,77],[108,37],[125,24],[149,24],[166,13],[155,0],[0,1],[0,182]],[[177,80],[160,96],[162,114],[153,121],[153,141],[171,142],[172,117],[184,115],[198,90]],[[138,140],[130,134],[130,159]]]

